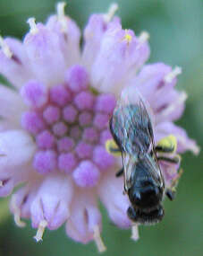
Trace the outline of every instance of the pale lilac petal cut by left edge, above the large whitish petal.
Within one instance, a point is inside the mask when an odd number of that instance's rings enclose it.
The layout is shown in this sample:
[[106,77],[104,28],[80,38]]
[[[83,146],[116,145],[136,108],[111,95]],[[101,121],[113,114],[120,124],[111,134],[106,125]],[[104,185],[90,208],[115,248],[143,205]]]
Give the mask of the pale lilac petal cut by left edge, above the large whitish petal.
[[21,112],[25,106],[21,96],[7,86],[0,84],[0,116],[14,124],[20,124]]

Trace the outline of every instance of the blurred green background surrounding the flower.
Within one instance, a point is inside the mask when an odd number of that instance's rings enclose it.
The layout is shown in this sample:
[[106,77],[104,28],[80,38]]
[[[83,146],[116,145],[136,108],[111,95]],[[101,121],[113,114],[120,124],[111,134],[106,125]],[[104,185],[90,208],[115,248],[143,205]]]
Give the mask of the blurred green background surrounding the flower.
[[[0,0],[0,33],[22,38],[27,19],[45,21],[55,12],[55,0]],[[109,0],[69,0],[66,12],[83,29],[90,13],[106,12]],[[189,94],[183,118],[178,122],[203,145],[203,1],[120,0],[118,14],[123,28],[150,33],[150,62],[182,66],[178,87]],[[103,210],[104,255],[200,256],[203,255],[203,154],[184,154],[182,180],[173,202],[165,199],[162,223],[140,227],[140,241],[131,232],[112,225]],[[94,243],[81,245],[64,234],[63,227],[47,231],[43,243],[35,243],[30,223],[16,227],[7,200],[0,201],[0,256],[97,255]]]

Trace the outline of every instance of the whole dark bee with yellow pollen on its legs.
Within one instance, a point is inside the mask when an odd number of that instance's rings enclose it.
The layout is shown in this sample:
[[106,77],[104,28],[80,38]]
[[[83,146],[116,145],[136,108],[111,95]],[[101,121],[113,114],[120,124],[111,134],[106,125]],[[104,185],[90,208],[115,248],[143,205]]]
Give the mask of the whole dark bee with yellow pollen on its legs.
[[[126,93],[128,92],[128,93]],[[107,148],[110,153],[121,152],[123,168],[116,173],[124,176],[124,193],[128,195],[131,206],[127,215],[138,224],[155,224],[165,215],[162,202],[164,196],[173,199],[173,190],[165,190],[165,179],[158,161],[178,163],[173,158],[157,157],[157,152],[173,153],[175,142],[160,143],[155,146],[152,120],[147,104],[140,93],[123,92],[117,102],[109,123],[114,143]],[[168,138],[171,142],[173,136]]]

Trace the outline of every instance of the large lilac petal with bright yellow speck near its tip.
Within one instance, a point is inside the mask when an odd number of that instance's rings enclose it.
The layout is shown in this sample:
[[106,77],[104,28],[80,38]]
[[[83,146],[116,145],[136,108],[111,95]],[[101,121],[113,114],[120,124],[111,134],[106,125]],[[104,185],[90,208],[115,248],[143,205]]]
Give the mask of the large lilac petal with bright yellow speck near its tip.
[[123,31],[118,24],[109,28],[91,69],[92,86],[100,92],[119,94],[148,55],[148,43],[137,38],[133,31]]

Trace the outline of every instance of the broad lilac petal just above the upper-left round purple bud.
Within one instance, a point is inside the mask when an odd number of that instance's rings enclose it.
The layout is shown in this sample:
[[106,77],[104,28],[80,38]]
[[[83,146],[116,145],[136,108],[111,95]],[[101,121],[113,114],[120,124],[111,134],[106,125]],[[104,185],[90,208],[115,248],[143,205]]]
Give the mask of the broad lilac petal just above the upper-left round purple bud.
[[65,63],[58,35],[41,23],[38,25],[31,23],[30,27],[31,30],[25,36],[23,46],[34,75],[38,81],[47,85],[63,82]]

